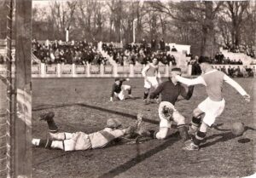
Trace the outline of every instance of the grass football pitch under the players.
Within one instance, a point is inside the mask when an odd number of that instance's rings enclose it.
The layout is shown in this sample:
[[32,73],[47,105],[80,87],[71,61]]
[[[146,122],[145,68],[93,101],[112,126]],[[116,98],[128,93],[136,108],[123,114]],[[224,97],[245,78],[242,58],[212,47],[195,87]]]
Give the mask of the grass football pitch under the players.
[[[166,79],[165,79],[166,80]],[[253,121],[253,78],[236,78],[252,96],[244,101],[224,83],[226,106],[217,127],[208,129],[199,151],[183,151],[177,134],[165,141],[117,144],[102,149],[63,152],[32,148],[32,177],[243,177],[256,172],[256,124]],[[255,82],[255,81],[254,81]],[[32,137],[48,137],[47,124],[39,121],[43,112],[55,112],[60,131],[91,133],[103,129],[108,118],[119,118],[125,126],[144,115],[144,126],[158,129],[158,104],[143,104],[143,79],[131,78],[136,100],[109,102],[113,78],[32,79]],[[190,122],[193,109],[206,98],[203,86],[196,86],[190,100],[177,102],[179,112]],[[240,137],[230,133],[230,125],[245,123]]]

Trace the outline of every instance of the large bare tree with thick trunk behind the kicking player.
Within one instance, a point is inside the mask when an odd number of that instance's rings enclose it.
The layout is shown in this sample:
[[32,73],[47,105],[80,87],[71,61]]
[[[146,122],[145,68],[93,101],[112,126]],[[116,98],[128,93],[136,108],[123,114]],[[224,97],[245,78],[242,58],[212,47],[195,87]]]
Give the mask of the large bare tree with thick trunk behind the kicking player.
[[184,26],[191,23],[199,26],[201,36],[197,40],[201,41],[200,55],[212,55],[212,42],[214,39],[214,19],[220,10],[223,2],[180,2],[162,3],[156,1],[152,7],[160,12],[170,15],[173,20],[179,20]]

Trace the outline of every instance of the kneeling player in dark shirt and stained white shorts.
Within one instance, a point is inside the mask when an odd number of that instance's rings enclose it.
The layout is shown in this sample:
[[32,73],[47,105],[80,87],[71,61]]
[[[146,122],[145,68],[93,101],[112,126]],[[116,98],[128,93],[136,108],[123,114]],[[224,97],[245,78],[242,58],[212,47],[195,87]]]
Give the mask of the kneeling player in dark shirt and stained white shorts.
[[193,95],[194,87],[185,88],[177,82],[176,75],[181,75],[180,68],[173,68],[171,78],[166,82],[160,83],[151,95],[149,95],[150,99],[154,99],[157,95],[161,95],[162,99],[158,110],[160,130],[154,136],[159,140],[166,139],[168,135],[172,134],[171,126],[174,121],[177,123],[177,129],[183,141],[189,141],[190,138],[185,124],[185,118],[177,111],[174,105],[177,100],[189,100]]

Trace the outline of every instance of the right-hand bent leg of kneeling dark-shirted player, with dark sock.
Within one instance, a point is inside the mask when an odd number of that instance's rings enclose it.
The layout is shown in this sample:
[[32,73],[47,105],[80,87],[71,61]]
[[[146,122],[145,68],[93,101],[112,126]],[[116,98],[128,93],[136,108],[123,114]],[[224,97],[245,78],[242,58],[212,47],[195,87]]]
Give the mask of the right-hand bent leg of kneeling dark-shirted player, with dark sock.
[[190,139],[188,128],[185,123],[185,118],[179,112],[175,111],[172,114],[173,120],[177,123],[177,130],[183,141],[188,141]]

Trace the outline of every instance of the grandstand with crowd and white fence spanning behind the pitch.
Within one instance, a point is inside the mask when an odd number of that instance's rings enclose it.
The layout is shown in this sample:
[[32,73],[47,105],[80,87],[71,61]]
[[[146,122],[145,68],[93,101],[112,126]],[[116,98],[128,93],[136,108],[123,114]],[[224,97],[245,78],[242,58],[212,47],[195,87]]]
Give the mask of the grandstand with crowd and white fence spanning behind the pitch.
[[[6,49],[4,44],[5,40],[0,40],[0,55],[6,56]],[[15,43],[15,42],[14,42]],[[150,44],[147,48],[143,48],[141,43],[130,43],[126,47],[123,47],[121,43],[97,43],[94,46],[92,43],[86,43],[85,49],[89,49],[94,55],[90,60],[88,60],[88,55],[83,58],[82,55],[79,55],[80,46],[83,46],[83,42],[57,42],[58,48],[73,48],[73,56],[70,56],[72,60],[57,60],[56,53],[50,54],[53,46],[56,41],[49,42],[47,41],[37,41],[36,45],[39,45],[38,51],[43,51],[43,57],[35,50],[35,47],[32,47],[32,77],[33,78],[90,78],[90,77],[142,77],[141,71],[143,66],[147,64],[150,57],[148,57],[147,49],[151,51]],[[32,44],[35,44],[35,41],[32,41]],[[49,46],[47,46],[47,45]],[[61,47],[62,46],[62,47]],[[72,47],[71,47],[72,46]],[[175,50],[172,50],[172,48]],[[43,48],[43,49],[42,49]],[[58,50],[59,50],[58,49]],[[141,50],[143,49],[143,50]],[[146,50],[144,50],[146,49]],[[179,66],[183,69],[183,74],[185,75],[195,75],[192,72],[193,67],[195,66],[195,60],[191,58],[190,46],[189,45],[180,45],[176,43],[166,43],[165,51],[156,50],[149,54],[154,54],[160,60],[160,72],[164,77],[169,76],[169,72],[172,69],[172,66]],[[55,51],[57,48],[55,48]],[[82,50],[82,49],[81,49]],[[84,50],[84,49],[83,49]],[[128,51],[128,55],[126,52]],[[143,55],[141,54],[143,51]],[[249,68],[253,73],[255,73],[255,66],[253,66],[254,59],[243,53],[232,53],[227,49],[220,48],[219,50],[223,55],[224,59],[231,59],[232,61],[241,61],[241,64],[230,63],[230,62],[219,62],[213,61],[212,66],[219,70],[222,70],[226,73],[232,65],[233,71],[237,70],[237,66],[241,66],[241,73],[244,73],[245,76],[248,76],[246,73],[247,68]],[[82,51],[84,52],[84,51]],[[119,62],[117,59],[117,54],[122,57],[123,62]],[[39,55],[38,55],[39,54]],[[12,49],[12,55],[15,55],[15,49]],[[46,55],[46,57],[45,57]],[[77,55],[77,56],[76,56]],[[169,55],[169,56],[168,56]],[[135,57],[133,57],[135,56]],[[141,60],[140,58],[142,58]],[[175,60],[172,61],[167,58],[172,56]],[[41,57],[41,58],[40,58]],[[77,59],[77,58],[78,59]],[[52,58],[54,60],[52,60]],[[134,58],[134,59],[132,59]],[[165,59],[165,60],[163,60]],[[224,68],[224,69],[223,69]],[[2,64],[0,65],[0,73],[3,74],[6,72],[6,67]],[[253,74],[254,75],[254,74]]]

